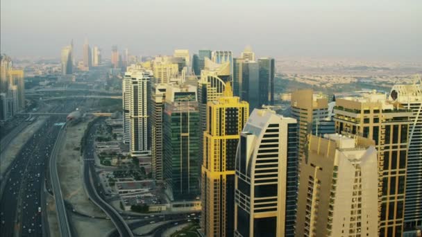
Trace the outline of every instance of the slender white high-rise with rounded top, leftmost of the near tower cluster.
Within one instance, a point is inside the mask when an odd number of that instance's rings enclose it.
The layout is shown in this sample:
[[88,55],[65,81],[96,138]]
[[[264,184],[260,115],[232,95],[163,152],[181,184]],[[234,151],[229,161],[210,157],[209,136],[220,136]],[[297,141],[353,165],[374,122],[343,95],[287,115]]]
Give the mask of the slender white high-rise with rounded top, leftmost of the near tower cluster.
[[124,140],[130,144],[130,155],[150,155],[148,132],[149,100],[152,71],[132,65],[123,79]]

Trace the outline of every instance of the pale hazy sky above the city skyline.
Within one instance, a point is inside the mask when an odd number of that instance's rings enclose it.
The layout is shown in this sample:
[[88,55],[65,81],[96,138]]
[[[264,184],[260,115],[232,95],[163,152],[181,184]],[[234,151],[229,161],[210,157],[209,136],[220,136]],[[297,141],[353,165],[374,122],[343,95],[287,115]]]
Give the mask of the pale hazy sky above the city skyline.
[[230,49],[259,56],[421,60],[421,0],[1,0],[1,52],[59,57],[87,37],[110,58]]

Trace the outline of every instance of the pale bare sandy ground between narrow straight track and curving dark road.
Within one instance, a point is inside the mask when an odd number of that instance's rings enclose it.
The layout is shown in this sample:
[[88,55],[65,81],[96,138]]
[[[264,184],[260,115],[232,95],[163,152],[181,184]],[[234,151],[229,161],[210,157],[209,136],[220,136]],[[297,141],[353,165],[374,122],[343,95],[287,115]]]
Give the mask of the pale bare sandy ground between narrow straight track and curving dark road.
[[[83,188],[83,161],[80,155],[80,146],[88,122],[83,121],[67,128],[65,143],[58,157],[60,187],[65,200],[71,202],[76,211],[89,216],[105,217],[105,213],[88,200]],[[110,220],[75,215],[71,219],[78,236],[105,236],[111,229],[114,229]]]

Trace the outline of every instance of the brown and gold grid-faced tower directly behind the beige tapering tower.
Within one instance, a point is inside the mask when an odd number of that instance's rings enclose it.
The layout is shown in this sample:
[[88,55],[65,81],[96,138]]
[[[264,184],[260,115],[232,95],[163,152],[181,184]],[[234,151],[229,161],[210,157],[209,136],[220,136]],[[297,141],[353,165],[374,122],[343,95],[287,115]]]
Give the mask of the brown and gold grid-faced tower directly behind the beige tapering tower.
[[336,132],[373,139],[378,151],[380,236],[401,236],[405,211],[407,146],[412,112],[390,103],[385,94],[336,98]]

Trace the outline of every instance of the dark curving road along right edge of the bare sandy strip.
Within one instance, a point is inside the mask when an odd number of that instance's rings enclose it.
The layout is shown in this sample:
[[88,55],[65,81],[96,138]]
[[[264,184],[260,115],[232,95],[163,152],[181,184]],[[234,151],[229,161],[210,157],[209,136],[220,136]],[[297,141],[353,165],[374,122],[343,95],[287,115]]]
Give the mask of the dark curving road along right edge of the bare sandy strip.
[[[101,208],[105,214],[112,220],[117,231],[119,231],[120,236],[122,237],[133,237],[132,231],[128,227],[124,219],[117,213],[117,211],[110,206],[107,202],[100,197],[96,187],[98,187],[98,177],[95,173],[95,162],[94,162],[94,134],[98,124],[92,125],[90,130],[87,132],[87,138],[85,139],[85,149],[83,150],[83,182],[85,191],[94,204]],[[97,184],[97,185],[96,185]],[[100,193],[102,195],[102,193]]]

